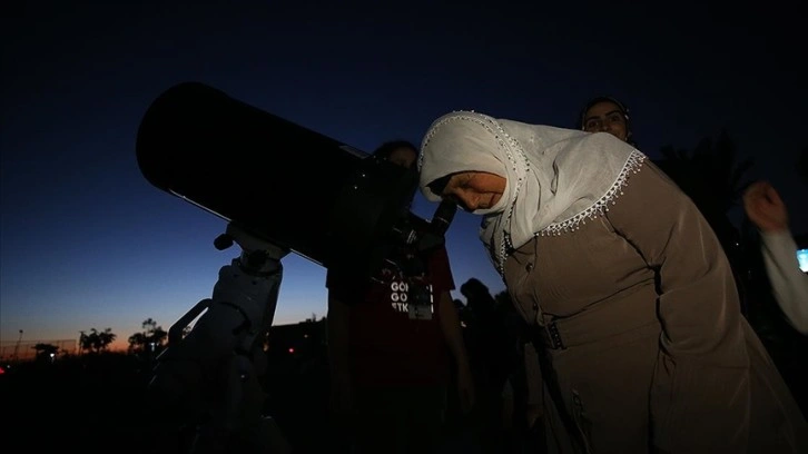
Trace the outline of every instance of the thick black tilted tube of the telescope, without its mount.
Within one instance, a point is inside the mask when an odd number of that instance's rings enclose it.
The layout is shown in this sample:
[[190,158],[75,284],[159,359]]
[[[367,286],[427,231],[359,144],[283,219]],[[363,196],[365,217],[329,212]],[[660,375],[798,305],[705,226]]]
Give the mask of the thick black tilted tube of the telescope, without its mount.
[[151,103],[136,152],[157,188],[319,265],[363,273],[416,188],[413,171],[200,82]]

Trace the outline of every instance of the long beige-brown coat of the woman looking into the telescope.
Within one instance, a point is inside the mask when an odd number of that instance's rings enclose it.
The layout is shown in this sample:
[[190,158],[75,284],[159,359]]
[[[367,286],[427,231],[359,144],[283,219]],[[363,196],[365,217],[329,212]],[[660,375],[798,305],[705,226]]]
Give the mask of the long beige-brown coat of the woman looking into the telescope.
[[533,384],[550,451],[808,453],[808,424],[692,201],[646,161],[613,203],[505,263],[543,352]]

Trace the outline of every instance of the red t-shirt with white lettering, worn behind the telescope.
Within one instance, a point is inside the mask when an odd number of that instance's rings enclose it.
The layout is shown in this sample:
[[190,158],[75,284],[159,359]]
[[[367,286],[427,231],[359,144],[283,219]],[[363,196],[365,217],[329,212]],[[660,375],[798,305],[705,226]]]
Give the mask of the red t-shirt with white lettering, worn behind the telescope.
[[426,272],[414,275],[400,265],[401,260],[385,261],[364,288],[352,288],[327,273],[326,287],[349,306],[354,384],[447,383],[449,352],[440,325],[437,295],[454,289],[454,279],[444,247],[430,253],[423,261]]

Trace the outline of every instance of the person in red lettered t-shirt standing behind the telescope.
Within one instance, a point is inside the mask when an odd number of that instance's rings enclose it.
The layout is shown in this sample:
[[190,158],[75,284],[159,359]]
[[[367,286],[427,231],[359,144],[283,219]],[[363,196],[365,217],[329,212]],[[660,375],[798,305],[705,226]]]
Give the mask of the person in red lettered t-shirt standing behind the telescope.
[[[417,149],[390,141],[374,155],[412,168]],[[366,282],[326,275],[332,409],[356,454],[435,452],[450,377],[462,409],[474,398],[445,247],[392,246]]]

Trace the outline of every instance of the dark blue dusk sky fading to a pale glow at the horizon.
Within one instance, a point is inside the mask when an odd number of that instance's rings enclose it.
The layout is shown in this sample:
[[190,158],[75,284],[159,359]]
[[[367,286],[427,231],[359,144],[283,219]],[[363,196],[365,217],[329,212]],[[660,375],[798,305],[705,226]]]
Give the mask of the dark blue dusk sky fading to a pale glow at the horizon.
[[[795,231],[808,231],[794,170],[808,147],[808,18],[796,4],[23,3],[6,7],[0,27],[6,342],[92,327],[126,340],[144,319],[167,329],[210,295],[236,254],[211,245],[225,221],[150,186],[135,156],[150,102],[188,80],[365,151],[420,142],[456,109],[572,127],[588,98],[610,93],[630,106],[651,157],[727,128],[756,159],[748,177],[779,187]],[[418,196],[414,210],[434,208]],[[459,214],[450,228],[455,280],[499,292],[477,223]],[[325,270],[296,255],[284,266],[276,323],[324,315]]]

